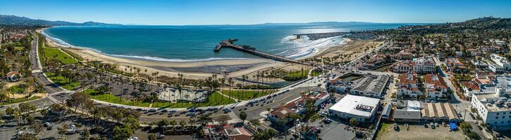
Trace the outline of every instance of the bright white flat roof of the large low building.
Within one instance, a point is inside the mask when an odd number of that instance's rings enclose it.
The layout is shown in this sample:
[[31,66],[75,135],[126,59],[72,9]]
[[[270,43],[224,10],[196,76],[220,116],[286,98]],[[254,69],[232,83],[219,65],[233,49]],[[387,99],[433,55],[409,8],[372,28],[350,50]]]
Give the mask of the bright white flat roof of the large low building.
[[329,110],[370,118],[379,102],[380,99],[347,94]]

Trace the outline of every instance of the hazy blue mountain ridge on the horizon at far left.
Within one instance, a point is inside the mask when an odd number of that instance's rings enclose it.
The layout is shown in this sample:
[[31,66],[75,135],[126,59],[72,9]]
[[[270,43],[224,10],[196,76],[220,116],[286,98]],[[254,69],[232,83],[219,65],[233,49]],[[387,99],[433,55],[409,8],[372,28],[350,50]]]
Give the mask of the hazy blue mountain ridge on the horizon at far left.
[[25,25],[25,26],[119,26],[120,24],[108,24],[101,22],[65,22],[35,20],[32,18],[18,17],[16,15],[0,15],[0,25]]

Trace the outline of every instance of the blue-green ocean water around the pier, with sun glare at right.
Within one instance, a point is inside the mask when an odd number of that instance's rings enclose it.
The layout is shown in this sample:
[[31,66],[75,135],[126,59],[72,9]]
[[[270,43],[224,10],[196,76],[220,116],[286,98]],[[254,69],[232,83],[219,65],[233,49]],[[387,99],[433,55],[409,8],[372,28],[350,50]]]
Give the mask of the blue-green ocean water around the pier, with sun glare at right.
[[333,31],[393,29],[414,24],[366,22],[323,22],[307,24],[262,25],[187,25],[187,26],[104,26],[51,27],[43,34],[78,48],[89,48],[114,57],[188,62],[214,59],[250,59],[254,55],[230,48],[214,52],[218,42],[238,38],[240,45],[285,57],[312,55],[320,48],[343,43],[342,37],[293,40],[293,34]]

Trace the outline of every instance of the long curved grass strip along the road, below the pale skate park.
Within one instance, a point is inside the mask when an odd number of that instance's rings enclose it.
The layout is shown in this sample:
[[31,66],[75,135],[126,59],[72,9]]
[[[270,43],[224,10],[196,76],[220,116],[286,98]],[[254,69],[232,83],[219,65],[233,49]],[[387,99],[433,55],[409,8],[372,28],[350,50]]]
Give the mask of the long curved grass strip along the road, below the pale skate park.
[[[90,94],[91,99],[97,99],[99,101],[104,102],[111,102],[115,104],[124,104],[124,105],[130,105],[130,106],[141,106],[141,107],[149,107],[149,102],[133,102],[129,100],[122,99],[120,97],[116,97],[113,94],[101,94],[97,92],[96,90],[84,90],[85,93]],[[233,104],[235,101],[233,99],[230,99],[228,97],[225,97],[218,92],[214,92],[213,94],[209,95],[207,102],[202,102],[198,104],[192,104],[188,102],[183,103],[171,103],[166,101],[158,101],[154,102],[152,104],[152,107],[156,108],[187,108],[192,106],[218,106],[223,104]]]

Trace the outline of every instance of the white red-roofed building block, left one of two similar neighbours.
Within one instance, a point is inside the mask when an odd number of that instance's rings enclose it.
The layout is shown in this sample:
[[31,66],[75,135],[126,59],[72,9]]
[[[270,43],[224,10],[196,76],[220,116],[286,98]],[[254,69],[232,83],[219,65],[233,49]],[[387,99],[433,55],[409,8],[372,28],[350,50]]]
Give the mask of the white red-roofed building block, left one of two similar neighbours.
[[417,98],[419,94],[422,94],[419,91],[419,78],[417,74],[401,74],[400,80],[398,83],[398,97],[408,96]]

